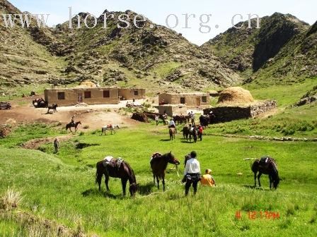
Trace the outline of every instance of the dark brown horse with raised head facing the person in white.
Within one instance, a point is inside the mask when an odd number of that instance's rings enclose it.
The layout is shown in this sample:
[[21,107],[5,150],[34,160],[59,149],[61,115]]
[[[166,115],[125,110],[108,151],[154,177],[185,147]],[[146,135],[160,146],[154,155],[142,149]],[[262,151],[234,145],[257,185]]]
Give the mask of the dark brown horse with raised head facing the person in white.
[[175,164],[175,165],[180,164],[180,162],[178,162],[178,159],[175,159],[172,152],[169,152],[163,155],[156,155],[156,157],[153,157],[150,162],[152,173],[153,173],[154,184],[155,184],[155,178],[156,178],[157,188],[160,189],[159,183],[161,179],[163,183],[163,191],[165,191],[164,178],[165,178],[165,171],[166,171],[166,167],[168,163]]

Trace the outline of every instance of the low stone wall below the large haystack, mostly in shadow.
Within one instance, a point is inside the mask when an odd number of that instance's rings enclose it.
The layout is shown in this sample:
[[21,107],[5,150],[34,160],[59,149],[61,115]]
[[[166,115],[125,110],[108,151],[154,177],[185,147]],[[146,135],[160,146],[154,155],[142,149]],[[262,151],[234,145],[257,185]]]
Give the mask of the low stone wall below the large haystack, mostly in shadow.
[[204,114],[210,111],[214,114],[214,123],[229,122],[237,119],[248,119],[277,108],[276,101],[258,102],[248,107],[214,107],[204,109]]

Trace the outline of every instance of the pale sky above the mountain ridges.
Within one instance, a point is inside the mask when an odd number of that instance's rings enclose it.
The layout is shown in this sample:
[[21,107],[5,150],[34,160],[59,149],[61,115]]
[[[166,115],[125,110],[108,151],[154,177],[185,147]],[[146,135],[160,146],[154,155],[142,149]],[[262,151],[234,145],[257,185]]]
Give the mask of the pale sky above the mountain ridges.
[[[10,0],[9,0],[10,1]],[[181,32],[190,42],[203,44],[231,27],[231,18],[235,14],[241,14],[243,20],[247,20],[248,13],[258,14],[258,16],[270,16],[272,13],[291,13],[306,23],[316,22],[316,0],[267,0],[267,1],[229,1],[229,0],[11,0],[13,5],[21,11],[30,13],[50,14],[48,25],[63,23],[69,18],[68,7],[72,7],[73,13],[89,12],[95,16],[100,16],[105,9],[108,11],[126,11],[127,9],[140,13],[156,24],[166,25],[166,18],[169,14],[178,17],[178,27],[173,29]],[[188,21],[190,29],[185,29],[185,16],[182,14],[195,14],[196,19]],[[209,23],[211,31],[201,33],[200,15],[212,14]],[[237,19],[238,21],[238,19]],[[173,25],[173,19],[170,24]],[[219,25],[216,28],[215,25]]]

